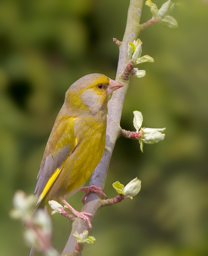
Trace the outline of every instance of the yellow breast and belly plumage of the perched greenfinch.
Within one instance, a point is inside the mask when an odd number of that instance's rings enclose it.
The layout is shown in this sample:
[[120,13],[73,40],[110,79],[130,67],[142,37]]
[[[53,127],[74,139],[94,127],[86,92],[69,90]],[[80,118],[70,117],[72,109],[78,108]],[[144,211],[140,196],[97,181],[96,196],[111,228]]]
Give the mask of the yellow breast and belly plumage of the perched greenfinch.
[[75,120],[77,145],[51,186],[45,202],[51,199],[61,201],[89,179],[105,148],[106,118],[104,113],[96,117],[85,116]]

